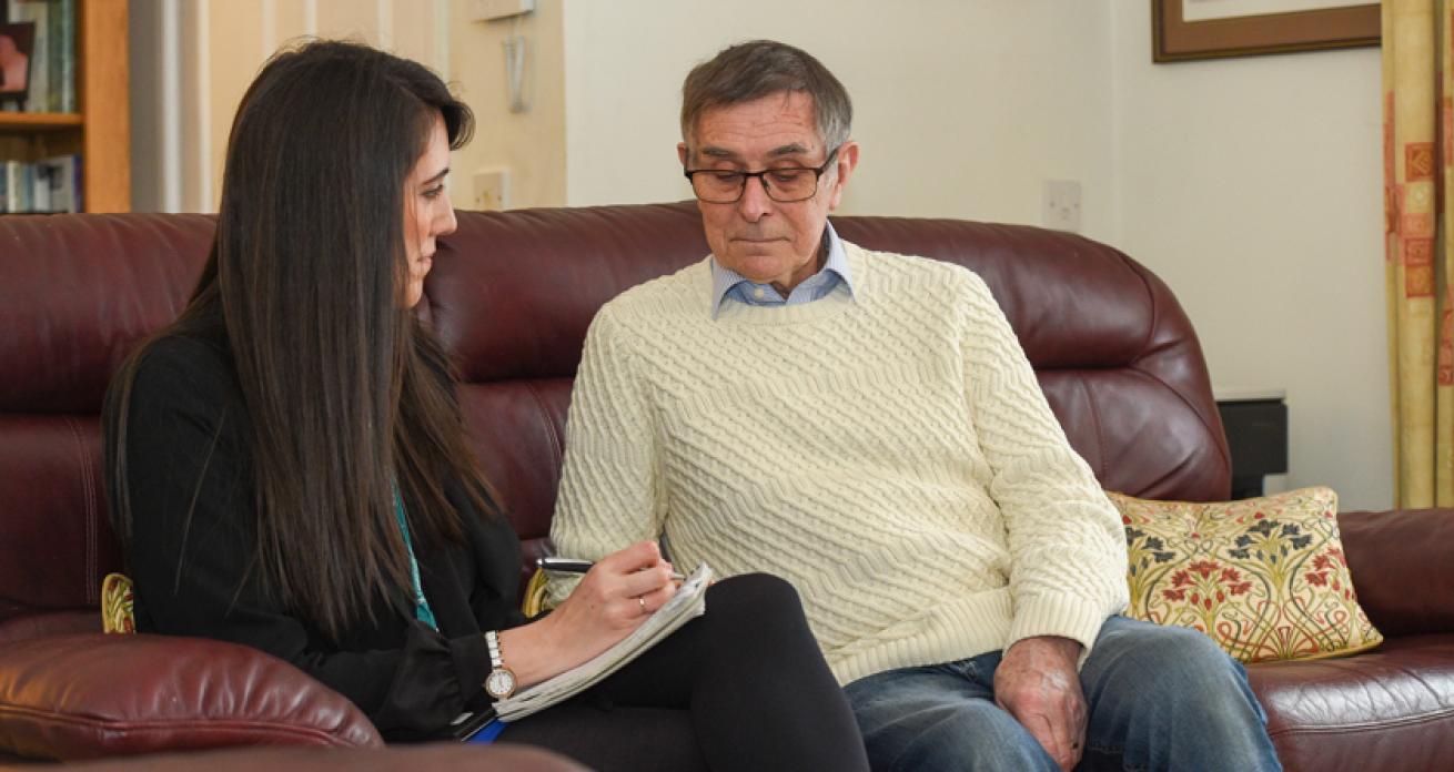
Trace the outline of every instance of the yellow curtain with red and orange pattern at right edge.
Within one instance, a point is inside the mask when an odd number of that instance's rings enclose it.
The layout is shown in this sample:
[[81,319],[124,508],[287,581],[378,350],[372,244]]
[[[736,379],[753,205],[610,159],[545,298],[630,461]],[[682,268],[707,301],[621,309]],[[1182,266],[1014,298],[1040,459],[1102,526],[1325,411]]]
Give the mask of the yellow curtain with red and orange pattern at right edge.
[[1383,173],[1394,506],[1454,506],[1448,0],[1383,1]]

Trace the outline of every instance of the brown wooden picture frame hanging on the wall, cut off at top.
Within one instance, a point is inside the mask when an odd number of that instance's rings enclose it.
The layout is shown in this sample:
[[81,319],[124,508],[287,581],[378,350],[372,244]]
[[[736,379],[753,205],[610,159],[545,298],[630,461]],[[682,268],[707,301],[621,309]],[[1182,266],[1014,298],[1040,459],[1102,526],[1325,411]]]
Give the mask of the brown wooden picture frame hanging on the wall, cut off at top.
[[1186,61],[1378,45],[1378,3],[1152,0],[1152,60]]

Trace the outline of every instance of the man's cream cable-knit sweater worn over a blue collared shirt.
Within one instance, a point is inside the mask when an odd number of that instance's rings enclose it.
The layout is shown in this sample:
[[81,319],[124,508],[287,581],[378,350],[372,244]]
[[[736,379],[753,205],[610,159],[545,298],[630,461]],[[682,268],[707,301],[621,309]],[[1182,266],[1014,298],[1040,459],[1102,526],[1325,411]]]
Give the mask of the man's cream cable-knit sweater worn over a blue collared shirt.
[[855,298],[714,321],[704,260],[601,310],[560,552],[664,531],[683,568],[778,574],[842,683],[1031,635],[1089,653],[1127,603],[1121,519],[995,298],[958,266],[845,249]]

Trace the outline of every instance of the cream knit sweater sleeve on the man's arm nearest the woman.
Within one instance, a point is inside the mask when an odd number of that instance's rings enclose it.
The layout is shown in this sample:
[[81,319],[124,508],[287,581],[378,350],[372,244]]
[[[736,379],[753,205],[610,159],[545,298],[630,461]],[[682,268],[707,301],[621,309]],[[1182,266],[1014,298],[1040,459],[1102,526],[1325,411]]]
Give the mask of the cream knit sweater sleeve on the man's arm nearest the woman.
[[[601,560],[654,539],[666,516],[660,443],[638,359],[608,304],[586,333],[566,422],[566,459],[551,519],[561,555]],[[557,605],[579,577],[550,577]]]

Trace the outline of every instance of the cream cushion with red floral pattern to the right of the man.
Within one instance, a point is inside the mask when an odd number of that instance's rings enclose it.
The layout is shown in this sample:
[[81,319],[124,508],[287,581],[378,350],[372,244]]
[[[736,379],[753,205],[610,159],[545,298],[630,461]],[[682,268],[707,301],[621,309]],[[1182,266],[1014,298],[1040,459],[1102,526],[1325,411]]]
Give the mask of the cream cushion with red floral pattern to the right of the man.
[[1332,490],[1217,503],[1109,496],[1130,552],[1127,615],[1200,630],[1246,663],[1383,641],[1358,606]]

